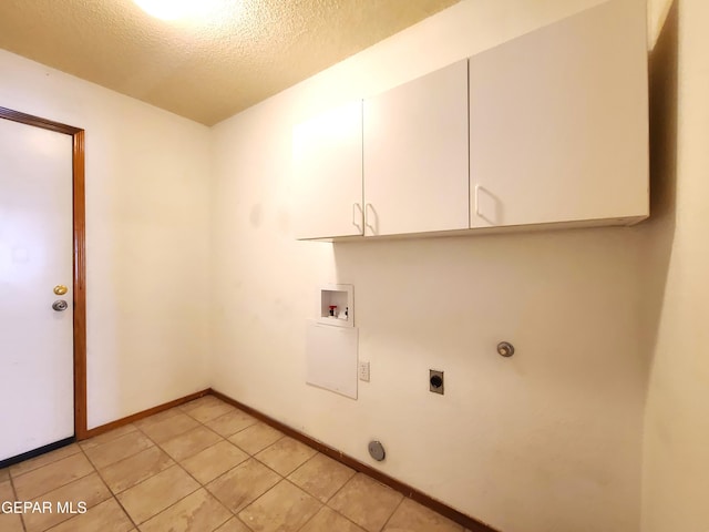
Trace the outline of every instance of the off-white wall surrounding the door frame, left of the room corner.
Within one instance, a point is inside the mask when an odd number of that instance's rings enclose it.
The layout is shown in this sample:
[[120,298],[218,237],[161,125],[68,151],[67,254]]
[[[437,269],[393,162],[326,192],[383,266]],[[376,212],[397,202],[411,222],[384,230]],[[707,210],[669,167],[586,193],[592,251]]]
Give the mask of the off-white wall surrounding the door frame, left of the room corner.
[[1,50],[0,72],[0,105],[86,131],[89,428],[208,387],[208,129]]

